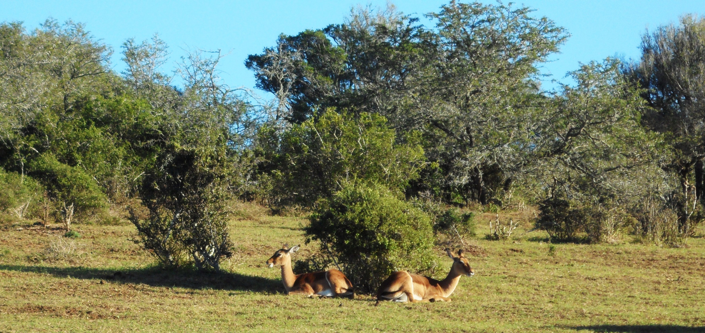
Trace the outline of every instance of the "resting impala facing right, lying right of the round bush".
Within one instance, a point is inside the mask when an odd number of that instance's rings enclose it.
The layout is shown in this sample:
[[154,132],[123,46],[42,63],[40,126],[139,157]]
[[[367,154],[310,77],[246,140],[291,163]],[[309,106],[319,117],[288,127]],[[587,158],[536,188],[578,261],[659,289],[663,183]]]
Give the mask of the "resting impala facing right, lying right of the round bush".
[[453,294],[455,287],[458,287],[460,277],[462,275],[472,277],[475,273],[467,258],[462,254],[462,250],[458,250],[458,256],[453,255],[450,249],[446,249],[446,253],[453,259],[453,266],[450,267],[450,272],[445,279],[439,281],[403,270],[393,272],[379,287],[377,303],[379,301],[450,301],[448,296]]

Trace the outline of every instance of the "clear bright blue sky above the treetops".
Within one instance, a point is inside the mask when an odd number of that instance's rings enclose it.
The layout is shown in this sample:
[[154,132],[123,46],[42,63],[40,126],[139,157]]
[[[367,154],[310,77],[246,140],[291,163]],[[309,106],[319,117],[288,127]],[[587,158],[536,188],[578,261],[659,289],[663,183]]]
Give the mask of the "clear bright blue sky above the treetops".
[[[404,13],[437,11],[447,1],[392,1]],[[484,1],[494,3],[494,1]],[[544,73],[563,80],[580,62],[607,56],[639,58],[639,43],[646,28],[677,22],[680,15],[705,15],[705,1],[625,0],[527,0],[516,1],[536,9],[566,27],[572,37],[561,53],[544,64]],[[111,45],[113,66],[123,69],[120,45],[128,38],[142,41],[157,32],[170,46],[171,60],[184,49],[221,49],[228,56],[221,62],[223,80],[231,87],[253,88],[255,80],[243,62],[248,54],[274,45],[280,33],[296,34],[305,29],[341,23],[357,4],[386,6],[387,1],[0,1],[0,21],[23,21],[33,29],[49,17],[85,23],[94,36]],[[172,65],[164,68],[169,72]],[[545,82],[544,87],[555,87]],[[262,92],[260,92],[262,94]],[[266,95],[265,95],[266,96]]]

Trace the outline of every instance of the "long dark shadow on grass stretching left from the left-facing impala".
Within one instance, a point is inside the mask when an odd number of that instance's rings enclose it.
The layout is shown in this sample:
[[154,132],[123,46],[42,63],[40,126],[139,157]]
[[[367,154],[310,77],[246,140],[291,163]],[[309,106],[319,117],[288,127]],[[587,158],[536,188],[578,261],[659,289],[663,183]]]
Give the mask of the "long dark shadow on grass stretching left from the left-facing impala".
[[198,272],[180,269],[140,268],[111,270],[86,267],[51,267],[0,265],[0,270],[51,274],[55,277],[78,279],[107,279],[123,283],[147,284],[153,287],[181,287],[191,289],[221,289],[274,293],[283,291],[281,281],[230,272]]

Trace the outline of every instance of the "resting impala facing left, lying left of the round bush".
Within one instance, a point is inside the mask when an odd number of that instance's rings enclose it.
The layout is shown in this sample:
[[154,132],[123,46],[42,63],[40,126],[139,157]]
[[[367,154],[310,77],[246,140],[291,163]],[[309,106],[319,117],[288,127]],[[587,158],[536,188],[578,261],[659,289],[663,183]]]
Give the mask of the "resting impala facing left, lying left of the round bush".
[[291,253],[298,251],[300,246],[288,249],[278,249],[269,260],[269,268],[281,265],[281,281],[287,294],[305,294],[307,296],[348,296],[355,298],[353,284],[340,270],[326,270],[325,272],[303,273],[295,275],[291,270]]

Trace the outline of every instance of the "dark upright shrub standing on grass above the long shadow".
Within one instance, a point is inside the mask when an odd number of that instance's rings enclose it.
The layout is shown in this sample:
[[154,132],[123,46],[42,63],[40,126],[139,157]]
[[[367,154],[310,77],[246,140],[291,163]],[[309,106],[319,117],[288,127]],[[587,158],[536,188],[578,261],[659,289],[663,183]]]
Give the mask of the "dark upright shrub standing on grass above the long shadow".
[[147,218],[133,211],[142,244],[164,265],[219,270],[228,237],[228,160],[224,151],[168,146],[140,187]]

